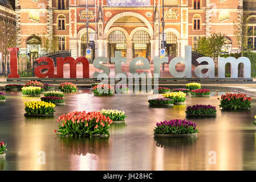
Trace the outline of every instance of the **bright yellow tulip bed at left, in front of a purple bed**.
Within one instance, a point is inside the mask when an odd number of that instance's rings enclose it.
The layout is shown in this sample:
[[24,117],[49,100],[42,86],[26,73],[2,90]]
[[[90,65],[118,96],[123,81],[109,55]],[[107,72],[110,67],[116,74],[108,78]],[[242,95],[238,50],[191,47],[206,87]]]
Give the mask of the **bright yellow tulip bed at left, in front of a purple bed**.
[[25,102],[25,116],[54,116],[55,104],[44,101]]

